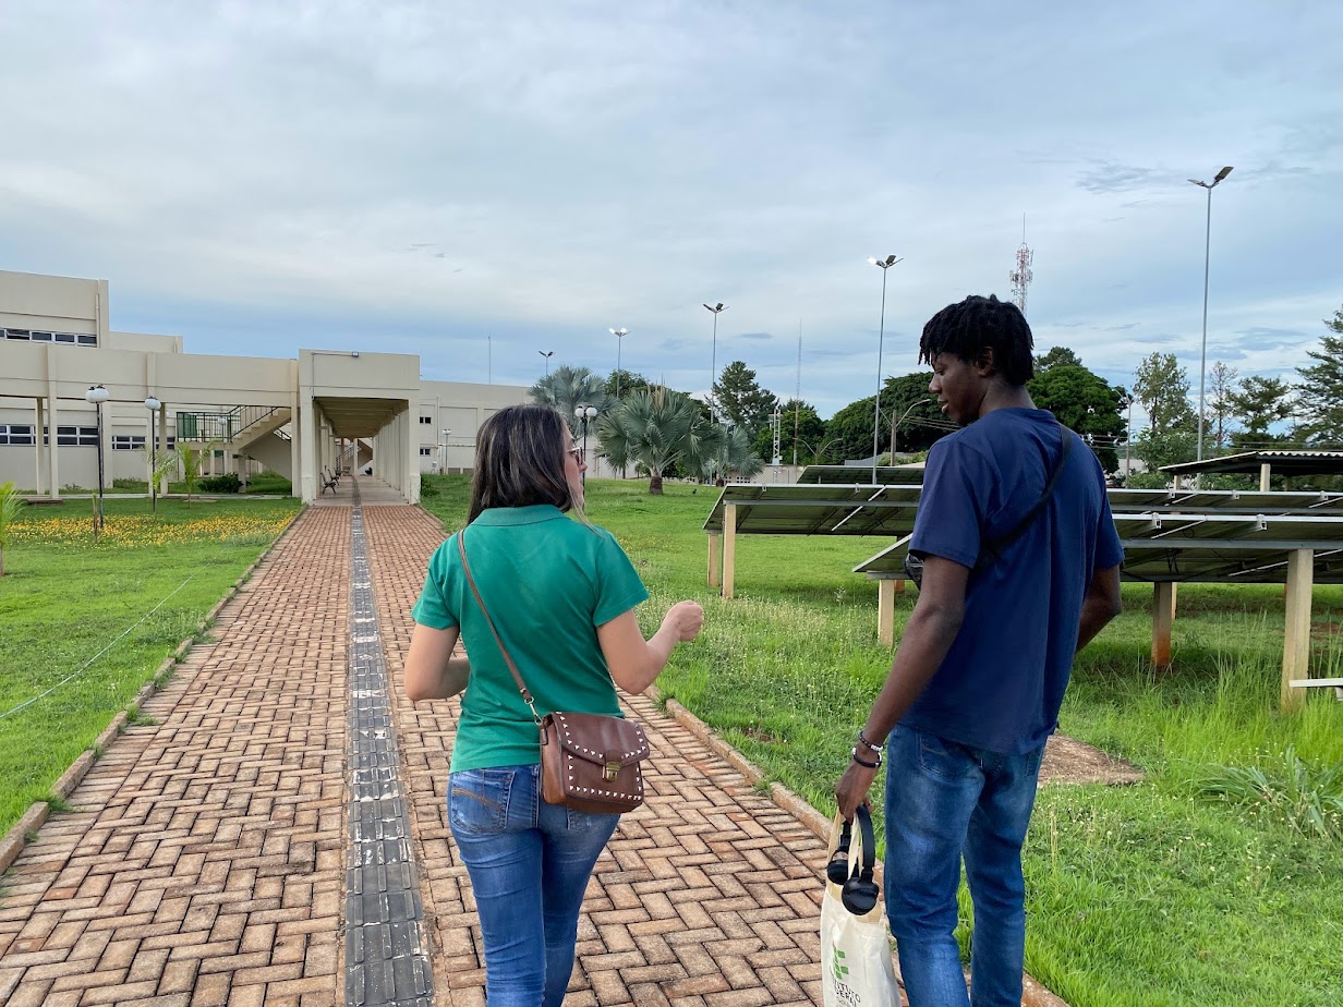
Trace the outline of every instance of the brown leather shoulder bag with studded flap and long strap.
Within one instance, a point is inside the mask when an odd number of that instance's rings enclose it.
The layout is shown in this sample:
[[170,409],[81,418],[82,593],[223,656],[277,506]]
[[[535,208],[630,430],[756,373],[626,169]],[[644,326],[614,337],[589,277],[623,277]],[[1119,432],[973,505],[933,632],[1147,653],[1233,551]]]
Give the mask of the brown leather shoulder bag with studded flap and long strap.
[[618,814],[639,807],[643,803],[643,771],[639,763],[649,756],[649,740],[643,736],[643,728],[623,717],[598,713],[556,710],[541,717],[536,712],[532,693],[522,682],[517,665],[481,600],[471,565],[466,560],[465,538],[463,528],[457,533],[457,548],[462,556],[466,583],[471,585],[475,604],[481,607],[500,654],[513,673],[513,681],[541,732],[541,798],[547,804],[563,804],[596,814]]

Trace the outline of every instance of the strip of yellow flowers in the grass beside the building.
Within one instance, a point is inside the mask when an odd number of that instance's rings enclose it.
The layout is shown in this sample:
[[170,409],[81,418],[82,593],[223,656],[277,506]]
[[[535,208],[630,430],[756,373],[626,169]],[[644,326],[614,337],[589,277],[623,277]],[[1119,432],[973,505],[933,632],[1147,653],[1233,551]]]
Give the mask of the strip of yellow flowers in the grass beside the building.
[[165,522],[148,514],[109,514],[102,536],[94,542],[89,517],[48,517],[15,522],[12,540],[44,545],[134,549],[180,542],[238,542],[274,538],[291,514],[214,514],[181,522]]

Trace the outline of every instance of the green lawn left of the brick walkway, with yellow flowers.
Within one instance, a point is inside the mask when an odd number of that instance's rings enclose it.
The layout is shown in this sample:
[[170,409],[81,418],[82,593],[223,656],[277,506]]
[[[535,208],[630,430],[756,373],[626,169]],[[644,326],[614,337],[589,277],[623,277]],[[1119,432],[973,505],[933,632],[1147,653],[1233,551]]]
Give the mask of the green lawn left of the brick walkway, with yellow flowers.
[[298,509],[289,499],[160,501],[152,517],[146,499],[109,497],[95,544],[81,504],[24,508],[5,549],[0,835],[50,795]]

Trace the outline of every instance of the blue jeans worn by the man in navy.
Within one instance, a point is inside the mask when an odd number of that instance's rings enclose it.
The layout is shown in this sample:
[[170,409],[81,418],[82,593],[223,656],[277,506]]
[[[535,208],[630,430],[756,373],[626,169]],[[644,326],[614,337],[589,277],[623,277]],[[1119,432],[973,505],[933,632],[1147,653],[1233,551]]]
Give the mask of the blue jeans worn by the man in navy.
[[[1044,747],[1005,756],[897,726],[886,751],[886,917],[911,1007],[1019,1007],[1021,846]],[[955,939],[962,857],[975,906],[972,1000]]]

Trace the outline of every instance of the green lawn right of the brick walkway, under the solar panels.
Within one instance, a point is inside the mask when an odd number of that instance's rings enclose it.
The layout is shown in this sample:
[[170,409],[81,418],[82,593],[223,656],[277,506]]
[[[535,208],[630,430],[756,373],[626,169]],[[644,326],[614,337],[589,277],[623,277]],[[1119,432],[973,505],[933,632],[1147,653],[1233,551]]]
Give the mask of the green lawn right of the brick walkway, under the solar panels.
[[[467,481],[426,485],[436,495],[424,506],[455,530]],[[737,597],[724,602],[705,583],[701,530],[716,491],[646,489],[590,481],[588,514],[619,537],[653,595],[646,631],[680,597],[705,607],[704,634],[658,686],[770,777],[833,811],[831,788],[890,663],[877,642],[876,584],[849,571],[889,541],[739,538]],[[916,597],[898,596],[897,636]],[[1201,798],[1197,781],[1288,745],[1343,767],[1343,704],[1320,690],[1303,714],[1275,712],[1280,587],[1180,587],[1164,674],[1148,665],[1151,603],[1150,587],[1124,587],[1125,612],[1080,655],[1062,712],[1066,733],[1148,777],[1041,791],[1026,849],[1027,969],[1073,1007],[1335,1007],[1343,842],[1307,838],[1272,808]],[[1313,673],[1338,677],[1343,588],[1316,588],[1313,618]],[[968,930],[964,901],[963,917]]]

